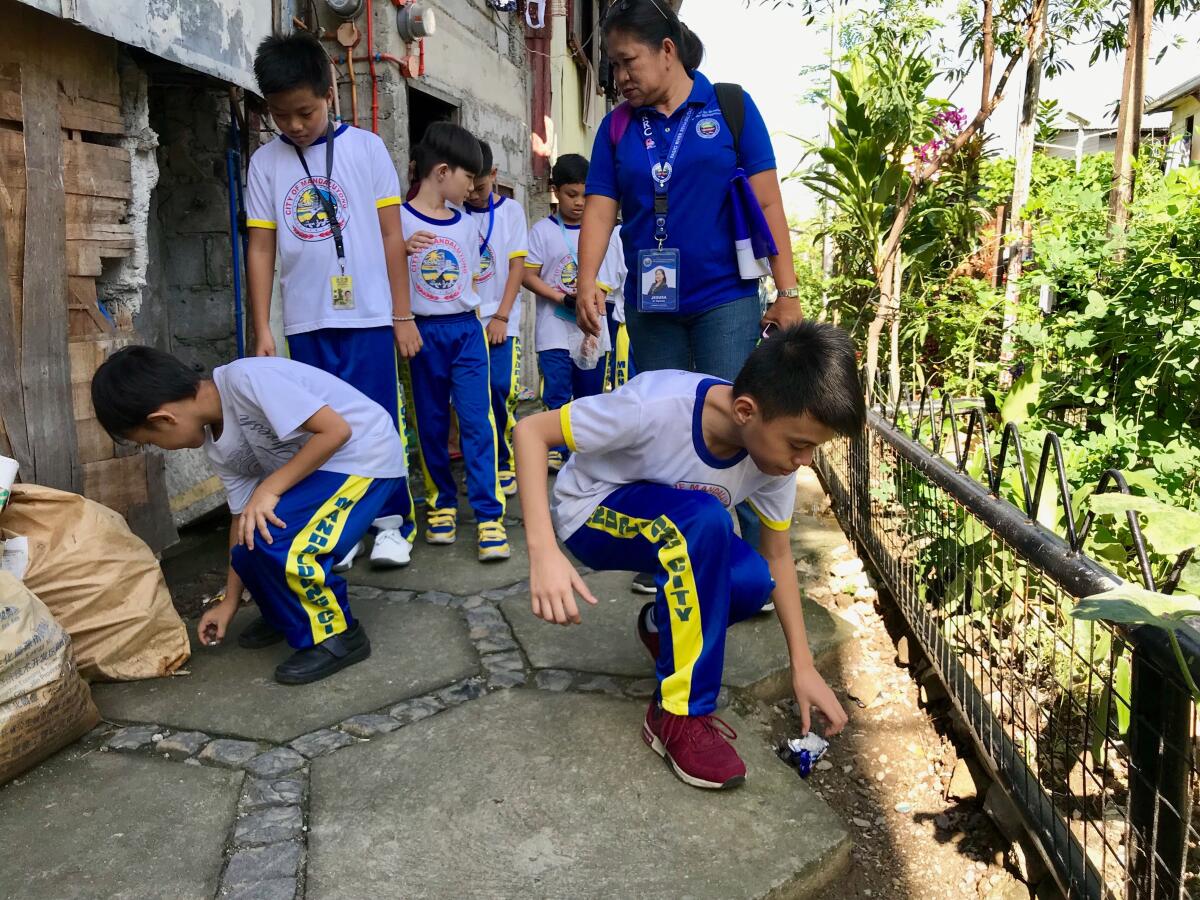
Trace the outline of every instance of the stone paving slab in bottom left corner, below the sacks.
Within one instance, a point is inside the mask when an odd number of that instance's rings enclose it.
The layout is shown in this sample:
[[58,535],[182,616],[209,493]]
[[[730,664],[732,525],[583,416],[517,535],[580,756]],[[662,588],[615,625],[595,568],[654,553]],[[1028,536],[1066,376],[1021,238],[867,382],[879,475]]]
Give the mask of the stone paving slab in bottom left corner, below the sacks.
[[208,900],[242,773],[67,750],[0,788],[0,896]]

